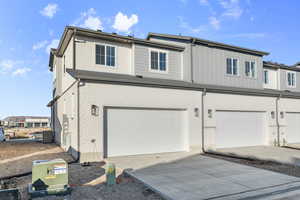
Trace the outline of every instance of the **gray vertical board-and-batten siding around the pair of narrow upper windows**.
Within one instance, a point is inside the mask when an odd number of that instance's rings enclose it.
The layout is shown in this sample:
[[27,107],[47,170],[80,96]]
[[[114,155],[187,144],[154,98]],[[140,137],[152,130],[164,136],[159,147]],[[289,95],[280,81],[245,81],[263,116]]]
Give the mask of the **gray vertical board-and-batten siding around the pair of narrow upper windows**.
[[[238,75],[226,74],[226,59],[238,59]],[[255,61],[256,77],[245,74],[245,62]],[[193,47],[194,81],[201,84],[263,88],[262,57],[196,45]]]

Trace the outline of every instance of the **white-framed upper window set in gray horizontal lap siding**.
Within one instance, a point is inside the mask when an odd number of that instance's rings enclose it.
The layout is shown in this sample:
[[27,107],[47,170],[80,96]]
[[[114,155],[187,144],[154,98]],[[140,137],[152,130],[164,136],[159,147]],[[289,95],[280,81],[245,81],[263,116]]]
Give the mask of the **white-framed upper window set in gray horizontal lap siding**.
[[167,53],[164,51],[150,51],[150,71],[167,71]]

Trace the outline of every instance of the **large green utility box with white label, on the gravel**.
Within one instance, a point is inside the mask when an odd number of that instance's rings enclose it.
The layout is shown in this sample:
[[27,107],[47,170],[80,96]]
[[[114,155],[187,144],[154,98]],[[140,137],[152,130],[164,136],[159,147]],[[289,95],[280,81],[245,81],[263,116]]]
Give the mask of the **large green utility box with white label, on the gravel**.
[[32,163],[31,197],[64,195],[70,192],[68,163],[63,159],[36,160]]

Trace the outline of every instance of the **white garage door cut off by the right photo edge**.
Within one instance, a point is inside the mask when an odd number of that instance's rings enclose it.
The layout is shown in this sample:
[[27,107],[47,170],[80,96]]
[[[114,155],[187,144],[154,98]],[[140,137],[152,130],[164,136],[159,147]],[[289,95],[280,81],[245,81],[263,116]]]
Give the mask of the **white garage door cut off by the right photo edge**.
[[287,142],[300,143],[300,113],[286,113]]

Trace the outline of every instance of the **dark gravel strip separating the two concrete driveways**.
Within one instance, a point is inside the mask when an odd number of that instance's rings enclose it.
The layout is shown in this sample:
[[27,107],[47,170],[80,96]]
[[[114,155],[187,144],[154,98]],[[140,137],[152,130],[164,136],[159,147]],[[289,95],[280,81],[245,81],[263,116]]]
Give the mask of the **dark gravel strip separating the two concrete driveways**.
[[261,169],[266,169],[266,170],[270,170],[270,171],[274,171],[274,172],[278,172],[290,176],[300,177],[300,166],[280,164],[272,161],[256,161],[256,160],[252,161],[252,160],[231,158],[227,156],[214,155],[214,154],[204,154],[204,156],[223,159],[230,162],[235,162],[235,163],[257,167]]

